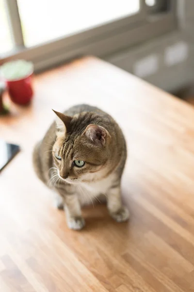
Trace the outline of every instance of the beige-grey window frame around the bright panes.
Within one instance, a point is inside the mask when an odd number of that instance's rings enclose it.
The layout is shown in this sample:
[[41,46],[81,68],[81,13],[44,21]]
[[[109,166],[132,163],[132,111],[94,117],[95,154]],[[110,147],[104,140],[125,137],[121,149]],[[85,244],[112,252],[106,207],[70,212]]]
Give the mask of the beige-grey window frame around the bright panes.
[[5,2],[15,48],[0,56],[0,65],[12,59],[22,58],[33,62],[35,72],[81,55],[105,57],[177,28],[176,0],[170,0],[168,11],[156,14],[149,13],[150,7],[146,5],[145,0],[140,0],[141,9],[137,14],[26,48],[17,0],[5,0]]

